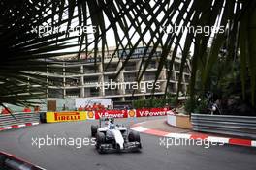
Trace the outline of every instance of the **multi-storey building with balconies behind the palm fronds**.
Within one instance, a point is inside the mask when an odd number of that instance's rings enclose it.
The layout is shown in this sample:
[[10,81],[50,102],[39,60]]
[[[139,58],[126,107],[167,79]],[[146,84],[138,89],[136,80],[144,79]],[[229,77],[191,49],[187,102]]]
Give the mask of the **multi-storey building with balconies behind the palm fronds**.
[[[146,57],[149,57],[150,50],[147,49]],[[123,66],[130,50],[115,51],[112,58],[113,52],[114,49],[109,49],[109,52],[105,53],[104,62],[102,62],[101,52],[99,52],[96,64],[93,54],[88,56],[81,54],[80,62],[72,61],[75,56],[64,56],[63,61],[54,65],[58,71],[55,67],[54,69],[48,68],[47,81],[50,85],[47,90],[48,98],[110,98],[112,101],[150,98],[162,52],[161,48],[158,48],[152,55],[140,84],[137,83],[136,78],[141,64],[143,68],[145,67],[145,62],[143,62],[145,48],[138,47],[131,54],[128,63],[125,64],[118,76],[116,76],[117,71]],[[112,61],[110,62],[111,58]],[[168,61],[170,60],[171,53],[168,57]],[[180,62],[180,57],[176,56],[168,93],[176,93]],[[168,69],[164,68],[157,80],[154,93],[156,97],[164,95],[167,75]],[[187,62],[182,75],[183,93],[187,91],[189,78],[190,65]]]

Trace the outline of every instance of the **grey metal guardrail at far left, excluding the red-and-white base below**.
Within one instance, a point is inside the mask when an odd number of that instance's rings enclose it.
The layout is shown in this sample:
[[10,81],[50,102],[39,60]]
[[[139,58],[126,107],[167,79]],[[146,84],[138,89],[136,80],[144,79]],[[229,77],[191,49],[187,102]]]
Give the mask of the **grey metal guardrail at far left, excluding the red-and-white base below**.
[[25,123],[40,122],[40,113],[0,114],[0,127],[8,127]]

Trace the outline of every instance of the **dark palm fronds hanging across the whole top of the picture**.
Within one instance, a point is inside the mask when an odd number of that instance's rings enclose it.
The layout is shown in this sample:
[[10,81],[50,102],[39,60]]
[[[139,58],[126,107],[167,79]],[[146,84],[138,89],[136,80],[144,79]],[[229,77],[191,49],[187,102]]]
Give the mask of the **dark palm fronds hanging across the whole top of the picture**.
[[[221,51],[225,51],[227,65],[240,58],[243,98],[246,98],[245,79],[249,75],[250,101],[255,104],[255,7],[254,0],[3,0],[0,2],[0,46],[5,55],[0,65],[0,103],[21,103],[38,98],[42,89],[32,85],[40,84],[44,88],[44,76],[38,73],[46,71],[45,59],[72,53],[63,52],[64,49],[77,46],[79,59],[80,52],[92,53],[96,58],[101,48],[104,62],[104,51],[109,47],[108,34],[112,32],[116,46],[112,57],[119,55],[120,49],[131,49],[124,66],[139,45],[146,49],[143,56],[145,67],[141,65],[138,81],[157,47],[162,48],[162,53],[155,81],[163,67],[172,68],[176,54],[181,52],[178,91],[184,66],[190,58],[190,51],[193,51],[189,88],[192,100],[197,74],[200,72],[202,84],[207,84]],[[93,26],[95,32],[74,36],[68,32],[74,25]],[[32,28],[40,26],[65,27],[66,32],[39,35],[40,29],[33,31]],[[167,63],[171,51],[172,60]],[[148,52],[151,55],[146,57]],[[170,78],[171,71],[168,82]]]

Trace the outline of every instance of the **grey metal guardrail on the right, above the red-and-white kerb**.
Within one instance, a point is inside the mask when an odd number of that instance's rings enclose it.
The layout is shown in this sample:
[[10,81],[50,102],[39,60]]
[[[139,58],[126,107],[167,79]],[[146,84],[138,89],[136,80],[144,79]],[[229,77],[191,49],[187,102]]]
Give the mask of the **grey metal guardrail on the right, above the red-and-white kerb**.
[[192,114],[193,130],[256,139],[256,117]]

